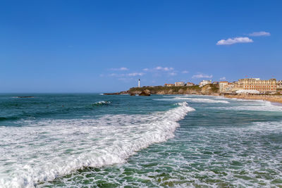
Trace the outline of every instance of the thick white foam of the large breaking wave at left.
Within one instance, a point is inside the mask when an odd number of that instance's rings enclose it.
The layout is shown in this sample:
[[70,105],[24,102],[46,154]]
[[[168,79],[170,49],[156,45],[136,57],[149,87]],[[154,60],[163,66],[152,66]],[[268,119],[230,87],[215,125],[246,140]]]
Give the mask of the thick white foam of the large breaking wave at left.
[[29,120],[0,127],[0,187],[35,187],[83,167],[123,163],[150,144],[174,137],[186,102],[164,113],[99,119]]

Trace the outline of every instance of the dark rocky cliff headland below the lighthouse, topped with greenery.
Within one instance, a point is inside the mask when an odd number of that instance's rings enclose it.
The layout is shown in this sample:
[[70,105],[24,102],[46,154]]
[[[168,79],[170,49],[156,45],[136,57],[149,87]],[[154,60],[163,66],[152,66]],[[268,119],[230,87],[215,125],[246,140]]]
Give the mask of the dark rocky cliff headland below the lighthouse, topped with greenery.
[[[204,94],[219,95],[219,87],[214,84],[207,84],[204,87],[199,86],[180,86],[180,87],[133,87],[128,90],[128,94],[141,94],[148,90],[150,94]],[[147,92],[147,91],[146,91]]]

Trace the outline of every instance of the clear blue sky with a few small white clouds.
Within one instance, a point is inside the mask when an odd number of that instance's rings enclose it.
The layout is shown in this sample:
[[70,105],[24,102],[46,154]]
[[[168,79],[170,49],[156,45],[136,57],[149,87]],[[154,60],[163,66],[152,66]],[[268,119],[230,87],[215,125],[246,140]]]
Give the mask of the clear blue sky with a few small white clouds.
[[282,1],[0,1],[0,92],[282,80]]

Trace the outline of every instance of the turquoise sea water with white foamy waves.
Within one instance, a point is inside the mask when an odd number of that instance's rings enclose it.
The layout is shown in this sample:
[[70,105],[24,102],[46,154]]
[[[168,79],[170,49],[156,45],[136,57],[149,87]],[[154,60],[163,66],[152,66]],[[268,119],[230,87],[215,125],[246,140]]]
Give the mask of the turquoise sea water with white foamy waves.
[[29,95],[0,95],[0,187],[282,187],[282,106]]

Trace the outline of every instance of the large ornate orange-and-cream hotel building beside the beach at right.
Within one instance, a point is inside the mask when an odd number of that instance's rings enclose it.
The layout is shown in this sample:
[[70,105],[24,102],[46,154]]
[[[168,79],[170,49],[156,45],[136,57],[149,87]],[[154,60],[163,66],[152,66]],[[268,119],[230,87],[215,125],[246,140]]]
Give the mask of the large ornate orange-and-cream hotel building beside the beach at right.
[[260,80],[259,78],[245,78],[238,80],[237,87],[243,90],[257,90],[259,92],[276,92],[276,79]]

